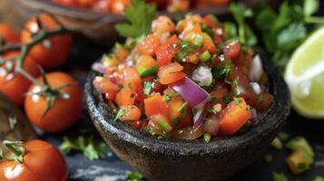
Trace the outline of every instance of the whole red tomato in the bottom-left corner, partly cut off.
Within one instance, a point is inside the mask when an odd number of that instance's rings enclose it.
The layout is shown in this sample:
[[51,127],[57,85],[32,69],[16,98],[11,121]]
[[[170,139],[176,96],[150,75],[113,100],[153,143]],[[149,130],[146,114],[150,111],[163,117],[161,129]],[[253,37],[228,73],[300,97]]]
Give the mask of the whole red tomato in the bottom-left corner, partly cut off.
[[23,163],[0,160],[1,181],[65,181],[68,169],[62,154],[43,140],[25,142]]

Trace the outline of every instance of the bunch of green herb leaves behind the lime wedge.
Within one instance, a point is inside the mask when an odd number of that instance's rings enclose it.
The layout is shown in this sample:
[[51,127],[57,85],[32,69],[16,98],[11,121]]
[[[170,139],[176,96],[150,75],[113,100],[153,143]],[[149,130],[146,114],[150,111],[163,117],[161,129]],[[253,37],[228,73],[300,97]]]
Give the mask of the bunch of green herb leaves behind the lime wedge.
[[324,17],[312,16],[319,10],[318,0],[302,2],[284,1],[278,13],[269,5],[263,5],[256,15],[255,24],[262,33],[263,44],[281,69],[291,53],[316,29],[316,24],[324,24]]

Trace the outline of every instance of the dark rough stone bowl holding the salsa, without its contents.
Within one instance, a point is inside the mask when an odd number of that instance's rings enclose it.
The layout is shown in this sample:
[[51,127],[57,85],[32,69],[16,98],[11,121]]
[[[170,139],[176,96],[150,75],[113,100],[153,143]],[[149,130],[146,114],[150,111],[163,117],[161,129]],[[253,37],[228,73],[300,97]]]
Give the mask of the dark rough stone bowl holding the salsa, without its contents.
[[241,135],[198,140],[159,140],[145,131],[113,121],[114,113],[92,81],[85,83],[86,104],[93,124],[118,157],[144,176],[162,181],[224,180],[250,165],[270,145],[290,113],[290,92],[269,59],[262,57],[274,102],[260,123]]

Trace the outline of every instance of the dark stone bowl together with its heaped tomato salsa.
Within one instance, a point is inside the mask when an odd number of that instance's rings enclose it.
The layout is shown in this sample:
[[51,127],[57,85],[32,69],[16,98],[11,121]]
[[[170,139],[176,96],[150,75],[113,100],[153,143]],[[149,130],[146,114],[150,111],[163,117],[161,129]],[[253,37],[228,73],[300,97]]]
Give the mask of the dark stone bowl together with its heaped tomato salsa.
[[[164,30],[173,33],[163,30],[160,33],[166,35],[156,39],[151,33],[117,45],[93,65],[96,71],[89,73],[85,83],[86,103],[96,129],[118,157],[152,180],[226,179],[260,156],[290,112],[289,90],[266,56],[255,57],[235,37],[221,34],[226,32],[223,24],[214,22],[212,16],[191,15],[184,23],[191,18],[194,22],[188,29],[197,32],[183,36],[178,31],[186,28],[174,24],[173,29],[167,17],[158,18],[171,27]],[[202,27],[201,21],[215,27]],[[204,34],[202,41],[197,41],[198,34]],[[238,45],[239,51],[228,49]],[[159,49],[167,51],[157,53]],[[135,50],[144,53],[136,55]],[[240,64],[240,59],[247,61]],[[251,69],[246,62],[259,68]],[[170,66],[174,67],[166,71]],[[205,76],[209,73],[204,74],[209,70],[211,79]],[[235,127],[224,129],[221,121],[234,122],[229,125]]]

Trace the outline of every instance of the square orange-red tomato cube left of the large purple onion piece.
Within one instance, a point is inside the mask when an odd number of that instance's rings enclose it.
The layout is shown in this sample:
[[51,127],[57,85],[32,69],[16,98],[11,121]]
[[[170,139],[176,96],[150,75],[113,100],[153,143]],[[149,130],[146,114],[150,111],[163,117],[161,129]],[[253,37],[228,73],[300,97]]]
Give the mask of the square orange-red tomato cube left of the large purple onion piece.
[[162,114],[166,118],[169,118],[166,102],[163,100],[160,93],[156,93],[152,97],[146,98],[144,100],[144,109],[145,115],[148,117],[154,114]]

